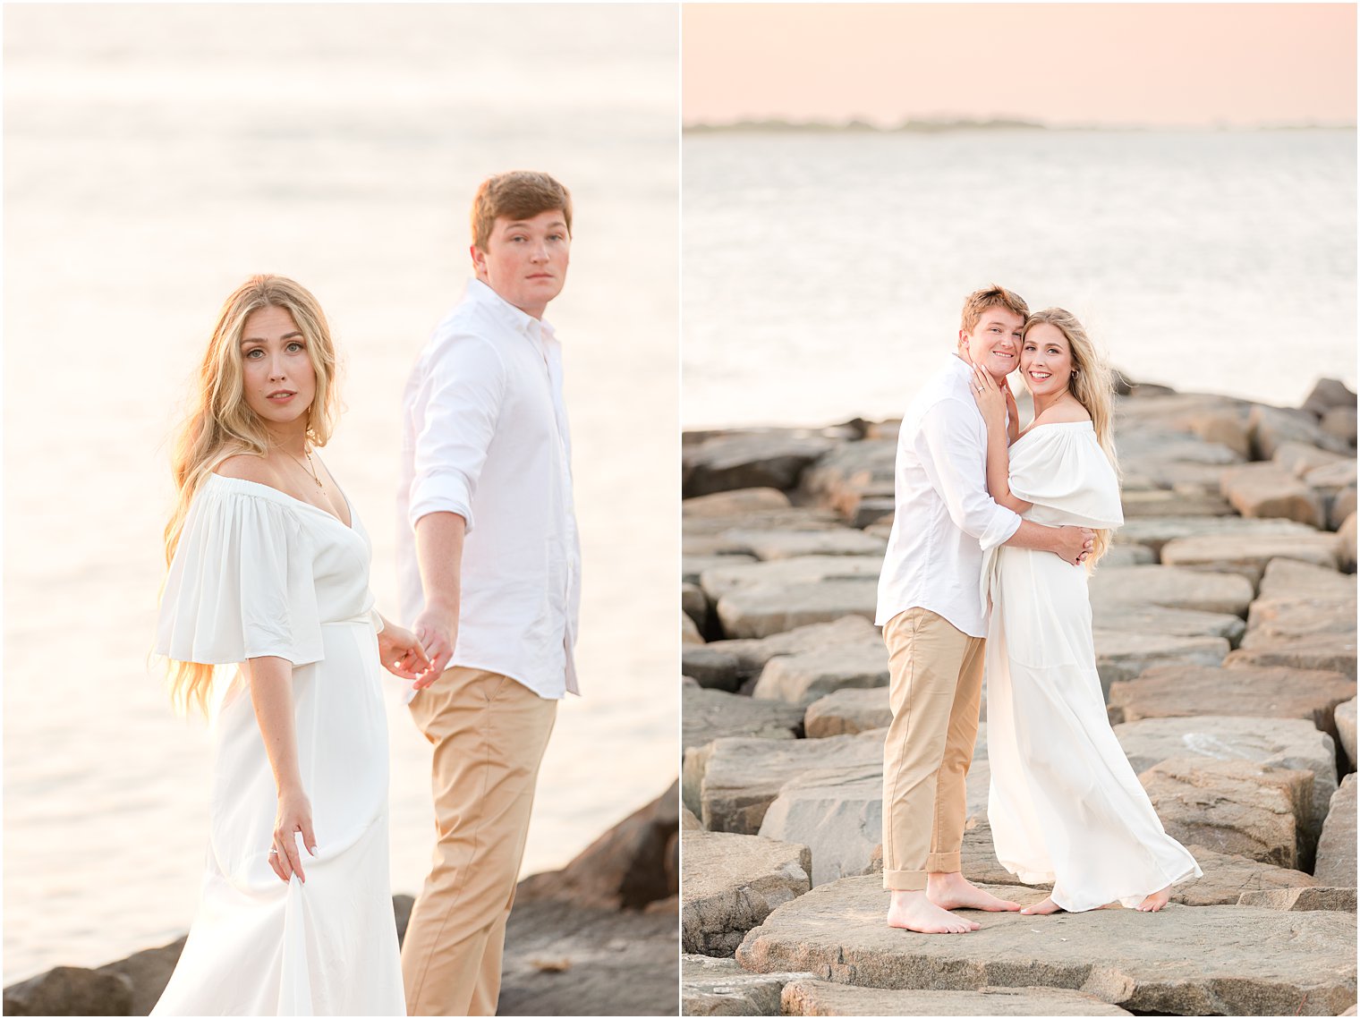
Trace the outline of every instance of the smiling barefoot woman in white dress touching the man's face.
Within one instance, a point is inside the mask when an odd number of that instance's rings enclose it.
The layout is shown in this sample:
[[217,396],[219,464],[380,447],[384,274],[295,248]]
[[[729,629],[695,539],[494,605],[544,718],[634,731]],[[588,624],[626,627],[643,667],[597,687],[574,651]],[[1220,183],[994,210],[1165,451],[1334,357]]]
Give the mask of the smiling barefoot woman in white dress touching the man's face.
[[1201,871],[1152,809],[1110,729],[1096,673],[1087,573],[1123,522],[1110,369],[1081,324],[1050,307],[1030,317],[1021,339],[1020,375],[1035,410],[1024,434],[1010,389],[981,369],[974,375],[991,498],[1039,524],[1096,531],[1085,570],[1000,547],[983,571],[991,596],[987,818],[997,858],[1027,884],[1053,882],[1049,898],[1023,913],[1112,902],[1155,913],[1172,884]]

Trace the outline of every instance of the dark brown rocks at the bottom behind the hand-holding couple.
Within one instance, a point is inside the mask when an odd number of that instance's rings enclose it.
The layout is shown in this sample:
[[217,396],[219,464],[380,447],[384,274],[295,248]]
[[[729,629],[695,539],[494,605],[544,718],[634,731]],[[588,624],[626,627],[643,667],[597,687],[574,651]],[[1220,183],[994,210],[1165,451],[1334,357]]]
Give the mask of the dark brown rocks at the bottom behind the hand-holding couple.
[[[676,1014],[679,829],[676,784],[562,871],[520,882],[506,926],[500,1015]],[[411,905],[409,895],[393,897],[398,940]],[[184,941],[12,984],[4,1014],[148,1015]]]

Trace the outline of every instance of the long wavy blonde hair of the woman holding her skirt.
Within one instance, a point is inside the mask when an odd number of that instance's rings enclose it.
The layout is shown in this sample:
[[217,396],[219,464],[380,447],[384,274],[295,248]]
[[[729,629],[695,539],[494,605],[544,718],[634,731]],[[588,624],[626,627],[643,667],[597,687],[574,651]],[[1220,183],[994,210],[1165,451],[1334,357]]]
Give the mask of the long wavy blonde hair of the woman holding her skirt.
[[[330,327],[317,299],[284,276],[252,276],[226,299],[212,328],[190,410],[175,435],[170,472],[175,483],[174,512],[165,529],[166,566],[174,559],[193,497],[223,460],[239,453],[264,456],[269,433],[245,400],[241,336],[246,318],[262,307],[279,307],[292,317],[306,340],[307,358],[317,374],[316,396],[307,407],[307,439],[324,446],[336,419],[336,352]],[[163,590],[162,590],[163,595]],[[170,660],[170,699],[181,712],[190,706],[207,713],[215,667]]]

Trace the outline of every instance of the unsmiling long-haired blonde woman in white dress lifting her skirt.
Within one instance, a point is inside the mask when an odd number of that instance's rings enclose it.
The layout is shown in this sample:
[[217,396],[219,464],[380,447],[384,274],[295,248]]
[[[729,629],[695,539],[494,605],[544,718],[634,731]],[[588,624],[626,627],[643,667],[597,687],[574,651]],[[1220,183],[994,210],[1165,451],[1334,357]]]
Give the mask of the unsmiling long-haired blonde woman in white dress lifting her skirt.
[[369,537],[311,452],[335,373],[316,298],[253,276],[174,452],[156,650],[177,706],[209,717],[214,774],[203,901],[154,1015],[405,1015],[378,664],[432,676],[373,609]]

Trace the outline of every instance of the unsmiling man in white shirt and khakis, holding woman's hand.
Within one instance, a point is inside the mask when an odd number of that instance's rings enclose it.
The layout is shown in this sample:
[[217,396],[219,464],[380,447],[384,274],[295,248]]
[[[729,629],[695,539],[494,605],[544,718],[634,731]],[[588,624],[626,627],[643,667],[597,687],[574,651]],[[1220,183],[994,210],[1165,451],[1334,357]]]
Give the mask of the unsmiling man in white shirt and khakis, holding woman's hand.
[[411,1015],[495,1015],[539,765],[558,701],[579,692],[562,347],[543,321],[567,276],[571,196],[544,173],[491,177],[472,237],[476,279],[403,401],[403,612],[438,676],[411,701],[438,824],[401,950]]

